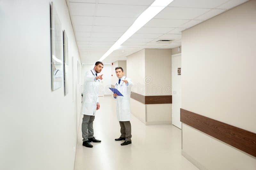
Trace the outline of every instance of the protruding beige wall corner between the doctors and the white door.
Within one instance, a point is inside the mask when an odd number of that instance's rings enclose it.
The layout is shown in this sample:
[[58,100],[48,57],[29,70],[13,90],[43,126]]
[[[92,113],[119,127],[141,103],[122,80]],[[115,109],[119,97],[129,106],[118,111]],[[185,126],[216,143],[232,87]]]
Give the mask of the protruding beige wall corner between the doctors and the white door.
[[[172,104],[155,103],[157,97],[172,94],[171,73],[171,49],[143,49],[127,56],[127,77],[133,81],[134,92],[131,112],[144,124],[172,124]],[[147,103],[147,96],[154,104]]]

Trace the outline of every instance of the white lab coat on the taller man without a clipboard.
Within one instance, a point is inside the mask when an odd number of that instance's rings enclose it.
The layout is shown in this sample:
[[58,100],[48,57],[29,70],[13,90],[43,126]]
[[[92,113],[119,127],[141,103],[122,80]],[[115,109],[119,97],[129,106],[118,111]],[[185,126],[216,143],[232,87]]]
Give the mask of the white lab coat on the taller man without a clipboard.
[[98,97],[99,79],[94,81],[96,77],[94,70],[87,71],[84,76],[83,102],[81,113],[84,115],[95,116]]

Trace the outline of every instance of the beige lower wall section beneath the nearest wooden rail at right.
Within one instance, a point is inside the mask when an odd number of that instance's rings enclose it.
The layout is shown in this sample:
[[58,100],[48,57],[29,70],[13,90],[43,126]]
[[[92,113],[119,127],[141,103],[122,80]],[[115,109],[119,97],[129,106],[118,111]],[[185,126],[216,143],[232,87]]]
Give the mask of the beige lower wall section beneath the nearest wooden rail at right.
[[255,157],[186,124],[182,124],[182,140],[183,151],[208,170],[256,169]]

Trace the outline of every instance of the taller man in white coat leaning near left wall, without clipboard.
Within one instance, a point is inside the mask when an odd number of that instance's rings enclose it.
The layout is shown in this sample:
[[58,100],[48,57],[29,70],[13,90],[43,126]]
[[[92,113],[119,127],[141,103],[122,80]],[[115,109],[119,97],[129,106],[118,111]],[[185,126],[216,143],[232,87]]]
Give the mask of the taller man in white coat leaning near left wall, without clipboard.
[[84,115],[82,122],[83,146],[92,148],[90,142],[101,142],[93,137],[93,120],[96,110],[100,109],[97,86],[102,80],[101,72],[103,63],[97,61],[92,70],[87,71],[84,76],[84,92],[81,112]]

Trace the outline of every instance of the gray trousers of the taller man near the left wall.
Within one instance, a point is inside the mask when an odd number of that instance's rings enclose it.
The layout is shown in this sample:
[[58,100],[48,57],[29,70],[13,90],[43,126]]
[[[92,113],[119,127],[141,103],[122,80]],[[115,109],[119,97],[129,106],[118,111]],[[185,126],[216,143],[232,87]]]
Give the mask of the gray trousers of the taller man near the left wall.
[[84,115],[82,122],[82,137],[83,142],[88,138],[93,138],[93,120],[95,116]]

